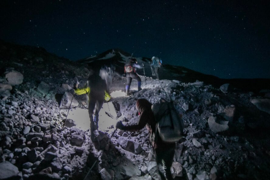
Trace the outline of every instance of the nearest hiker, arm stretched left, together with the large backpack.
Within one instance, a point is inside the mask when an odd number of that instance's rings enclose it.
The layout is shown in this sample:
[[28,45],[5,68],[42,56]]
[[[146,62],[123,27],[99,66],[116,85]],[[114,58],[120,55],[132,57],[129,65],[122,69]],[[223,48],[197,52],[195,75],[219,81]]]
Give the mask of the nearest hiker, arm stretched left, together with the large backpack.
[[161,177],[171,180],[171,164],[173,162],[175,143],[184,135],[182,116],[176,111],[173,102],[160,99],[158,103],[151,104],[146,99],[138,99],[136,109],[140,115],[138,124],[123,125],[122,121],[116,123],[120,130],[136,131],[146,126],[149,139],[153,147],[154,156],[158,164],[162,164],[165,175]]

